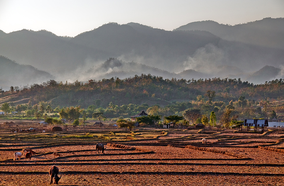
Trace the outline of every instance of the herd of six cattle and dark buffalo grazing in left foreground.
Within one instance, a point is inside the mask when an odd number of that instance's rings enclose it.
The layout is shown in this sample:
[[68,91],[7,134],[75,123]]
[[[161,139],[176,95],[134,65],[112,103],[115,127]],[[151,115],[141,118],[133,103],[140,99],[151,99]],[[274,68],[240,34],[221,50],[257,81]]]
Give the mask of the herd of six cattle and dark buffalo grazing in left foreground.
[[[105,149],[106,149],[107,147],[104,147],[104,145],[102,144],[102,143],[97,143],[96,144],[96,153],[97,153],[97,151],[98,151],[98,153],[99,153],[99,151],[101,152],[101,153],[104,153],[104,151],[105,151]],[[27,160],[31,160],[31,156],[32,155],[36,155],[36,152],[35,151],[33,151],[32,149],[23,149],[22,150],[23,151],[23,153],[22,152],[15,152],[14,153],[14,160],[21,160],[21,157],[22,157],[22,155],[24,156],[24,158]],[[59,154],[59,153],[57,153],[57,152],[54,152],[53,153],[53,158],[55,158],[55,157],[61,157],[61,154]],[[58,181],[60,180],[60,178],[61,178],[61,176],[62,175],[60,175],[60,177],[58,176],[58,173],[59,173],[59,168],[57,167],[57,166],[55,166],[55,165],[52,165],[51,167],[50,167],[50,169],[49,169],[49,174],[50,174],[50,176],[51,176],[51,181],[50,181],[50,185],[52,184],[52,182],[53,182],[53,178],[54,178],[54,184],[58,184]]]

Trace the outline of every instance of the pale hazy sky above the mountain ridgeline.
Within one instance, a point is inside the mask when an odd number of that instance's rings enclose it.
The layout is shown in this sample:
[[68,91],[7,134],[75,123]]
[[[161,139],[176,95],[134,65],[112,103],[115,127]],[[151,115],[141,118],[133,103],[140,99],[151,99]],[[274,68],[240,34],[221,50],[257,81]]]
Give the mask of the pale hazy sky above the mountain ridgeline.
[[76,36],[105,23],[173,30],[195,21],[239,24],[284,17],[284,0],[0,0],[0,30]]

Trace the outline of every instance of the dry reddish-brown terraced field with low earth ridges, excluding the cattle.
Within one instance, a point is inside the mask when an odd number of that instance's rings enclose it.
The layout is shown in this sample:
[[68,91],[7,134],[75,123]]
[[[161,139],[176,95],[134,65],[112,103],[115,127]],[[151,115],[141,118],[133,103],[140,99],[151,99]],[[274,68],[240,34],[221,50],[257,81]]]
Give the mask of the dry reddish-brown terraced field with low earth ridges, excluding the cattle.
[[[0,128],[0,185],[284,185],[284,130],[69,128],[10,133]],[[208,140],[202,144],[202,138]],[[96,143],[107,149],[96,153]],[[14,152],[36,151],[31,160]],[[61,157],[53,158],[58,152]],[[54,185],[54,184],[52,184]]]

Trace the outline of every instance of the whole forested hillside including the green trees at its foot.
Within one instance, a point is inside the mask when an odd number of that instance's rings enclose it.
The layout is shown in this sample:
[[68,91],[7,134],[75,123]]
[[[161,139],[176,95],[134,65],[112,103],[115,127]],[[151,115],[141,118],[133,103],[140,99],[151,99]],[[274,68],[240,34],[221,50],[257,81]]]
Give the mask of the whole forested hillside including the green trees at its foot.
[[[197,122],[212,111],[220,122],[224,114],[234,119],[283,118],[284,81],[274,80],[253,85],[240,79],[163,79],[142,74],[125,79],[110,78],[99,81],[54,80],[22,87],[19,91],[1,91],[0,104],[9,105],[24,115],[43,117],[57,113],[64,107],[77,108],[92,117],[95,112],[107,118],[135,115],[142,110],[151,115],[179,115]],[[3,110],[3,109],[2,109]],[[42,115],[39,115],[41,110]],[[80,115],[80,114],[79,114]],[[81,115],[82,117],[82,115]]]

